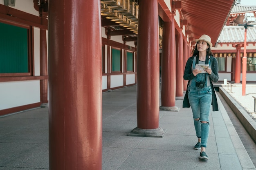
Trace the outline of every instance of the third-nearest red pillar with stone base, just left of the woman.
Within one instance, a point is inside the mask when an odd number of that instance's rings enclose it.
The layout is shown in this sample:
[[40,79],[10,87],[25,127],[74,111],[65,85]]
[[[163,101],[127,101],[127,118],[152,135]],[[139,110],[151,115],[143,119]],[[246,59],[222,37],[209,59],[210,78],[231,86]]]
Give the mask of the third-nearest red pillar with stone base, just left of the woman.
[[[162,110],[178,111],[175,106],[176,87],[176,47],[175,47],[175,20],[174,13],[171,22],[164,22],[162,45],[162,82],[161,106]],[[183,63],[182,63],[183,64]]]

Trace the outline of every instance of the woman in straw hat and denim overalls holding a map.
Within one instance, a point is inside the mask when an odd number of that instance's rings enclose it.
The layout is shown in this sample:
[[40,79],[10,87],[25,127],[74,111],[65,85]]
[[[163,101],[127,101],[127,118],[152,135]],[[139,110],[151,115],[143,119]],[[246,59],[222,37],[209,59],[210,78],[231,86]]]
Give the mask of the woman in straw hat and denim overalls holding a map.
[[189,80],[186,94],[183,101],[183,108],[190,107],[193,113],[195,132],[198,143],[194,149],[201,150],[200,159],[208,160],[206,147],[209,136],[209,115],[213,105],[213,111],[218,111],[217,98],[214,91],[213,82],[217,82],[218,62],[211,52],[211,38],[202,35],[196,39],[197,43],[186,62],[184,76]]

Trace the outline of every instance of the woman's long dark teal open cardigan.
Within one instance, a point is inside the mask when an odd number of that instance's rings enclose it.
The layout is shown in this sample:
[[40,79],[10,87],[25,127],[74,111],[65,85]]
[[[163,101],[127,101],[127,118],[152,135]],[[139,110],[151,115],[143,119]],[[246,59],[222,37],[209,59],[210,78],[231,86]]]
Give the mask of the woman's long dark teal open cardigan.
[[[188,61],[186,62],[186,66],[185,66],[185,70],[184,70],[184,75],[183,78],[185,80],[190,80],[193,79],[195,76],[192,73],[192,64],[193,64],[193,58],[189,57]],[[219,75],[218,75],[218,62],[216,60],[215,57],[211,56],[210,57],[211,60],[211,74],[209,75],[210,78],[210,83],[211,83],[211,89],[212,89],[212,99],[211,99],[211,105],[213,106],[213,111],[218,111],[218,102],[217,102],[217,97],[216,97],[216,93],[212,84],[213,82],[218,82],[219,79]],[[189,85],[188,82],[188,85]],[[184,96],[184,100],[183,100],[183,108],[189,108],[190,104],[189,104],[189,98],[188,98],[188,87],[186,88],[186,94]]]

